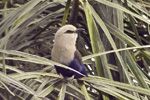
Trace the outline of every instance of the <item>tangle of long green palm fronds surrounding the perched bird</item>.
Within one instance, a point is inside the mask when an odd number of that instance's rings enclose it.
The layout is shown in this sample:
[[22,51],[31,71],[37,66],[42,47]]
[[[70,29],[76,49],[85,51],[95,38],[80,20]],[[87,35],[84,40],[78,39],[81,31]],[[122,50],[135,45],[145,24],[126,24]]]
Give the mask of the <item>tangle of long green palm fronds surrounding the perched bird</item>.
[[[50,60],[65,24],[89,75],[68,84]],[[149,100],[149,25],[149,0],[0,1],[0,100]]]

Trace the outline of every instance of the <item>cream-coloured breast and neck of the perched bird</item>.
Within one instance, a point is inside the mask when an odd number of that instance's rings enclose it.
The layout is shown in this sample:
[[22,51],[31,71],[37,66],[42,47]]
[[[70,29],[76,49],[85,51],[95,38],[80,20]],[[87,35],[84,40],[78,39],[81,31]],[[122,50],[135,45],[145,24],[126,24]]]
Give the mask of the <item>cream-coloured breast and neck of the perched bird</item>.
[[76,51],[76,38],[77,34],[65,34],[56,37],[51,53],[52,60],[66,65],[70,64]]

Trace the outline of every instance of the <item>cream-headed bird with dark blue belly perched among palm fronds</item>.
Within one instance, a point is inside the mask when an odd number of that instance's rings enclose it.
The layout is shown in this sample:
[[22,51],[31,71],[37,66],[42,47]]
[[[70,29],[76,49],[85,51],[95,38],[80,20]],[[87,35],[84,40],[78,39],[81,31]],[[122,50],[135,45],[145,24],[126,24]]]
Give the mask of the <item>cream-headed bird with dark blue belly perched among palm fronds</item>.
[[[55,33],[51,59],[52,61],[64,64],[88,77],[82,62],[81,54],[76,48],[78,33],[82,31],[84,31],[83,28],[76,28],[71,24],[62,26]],[[54,67],[57,74],[62,75],[64,78],[73,77],[74,79],[78,79],[84,77],[79,73],[61,66],[54,65]]]

